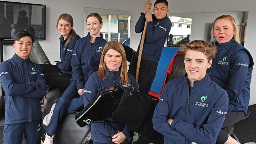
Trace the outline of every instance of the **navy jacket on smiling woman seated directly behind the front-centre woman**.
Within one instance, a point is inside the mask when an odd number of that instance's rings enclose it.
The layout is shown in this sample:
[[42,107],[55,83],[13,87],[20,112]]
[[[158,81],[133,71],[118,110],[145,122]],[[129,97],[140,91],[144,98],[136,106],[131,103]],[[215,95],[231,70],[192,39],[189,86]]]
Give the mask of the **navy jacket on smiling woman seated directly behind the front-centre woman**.
[[72,78],[76,83],[76,89],[83,89],[90,74],[98,70],[100,57],[103,51],[106,40],[101,37],[96,37],[93,46],[91,47],[90,33],[86,37],[78,39],[74,48],[71,66]]

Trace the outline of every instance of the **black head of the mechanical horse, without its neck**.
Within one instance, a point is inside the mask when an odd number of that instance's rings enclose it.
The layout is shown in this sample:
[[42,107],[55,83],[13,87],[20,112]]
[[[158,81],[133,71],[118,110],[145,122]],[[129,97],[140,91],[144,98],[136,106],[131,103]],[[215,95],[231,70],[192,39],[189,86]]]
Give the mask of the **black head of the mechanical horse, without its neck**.
[[103,122],[106,118],[111,117],[112,113],[117,109],[122,96],[124,94],[132,95],[132,91],[137,91],[122,87],[115,82],[114,87],[108,87],[101,90],[95,98],[76,114],[76,123],[80,126],[86,126],[92,122]]

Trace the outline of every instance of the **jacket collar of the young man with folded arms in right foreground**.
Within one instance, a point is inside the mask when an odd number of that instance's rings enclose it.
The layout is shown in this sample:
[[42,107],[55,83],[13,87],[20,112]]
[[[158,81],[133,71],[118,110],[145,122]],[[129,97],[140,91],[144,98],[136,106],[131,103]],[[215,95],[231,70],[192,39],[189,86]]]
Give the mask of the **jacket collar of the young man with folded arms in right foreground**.
[[[183,81],[184,81],[184,84],[189,85],[189,81],[187,79],[187,74],[185,74],[185,76],[183,77]],[[204,78],[202,80],[194,81],[193,89],[201,89],[202,87],[204,87],[204,85],[206,85],[206,83],[209,83],[210,81],[211,81],[211,78],[210,78],[209,74],[206,72],[206,75],[204,76]]]

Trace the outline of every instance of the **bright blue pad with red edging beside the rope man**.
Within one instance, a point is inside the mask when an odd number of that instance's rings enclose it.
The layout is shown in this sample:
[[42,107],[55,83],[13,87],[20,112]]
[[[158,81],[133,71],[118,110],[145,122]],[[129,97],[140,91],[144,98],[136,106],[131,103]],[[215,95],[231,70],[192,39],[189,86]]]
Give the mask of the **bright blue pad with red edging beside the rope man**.
[[167,73],[167,69],[176,54],[176,52],[180,48],[166,48],[164,47],[161,52],[161,57],[158,62],[157,70],[156,70],[156,77],[153,79],[153,83],[151,85],[150,90],[156,92],[158,94],[161,93],[163,82],[165,80],[165,75]]

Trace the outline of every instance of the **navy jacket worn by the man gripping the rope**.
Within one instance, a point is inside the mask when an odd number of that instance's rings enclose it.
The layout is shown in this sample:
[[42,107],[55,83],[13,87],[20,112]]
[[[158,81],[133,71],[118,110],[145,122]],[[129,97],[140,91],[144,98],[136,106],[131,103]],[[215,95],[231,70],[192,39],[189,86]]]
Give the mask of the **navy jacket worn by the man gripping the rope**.
[[[142,57],[143,60],[150,60],[158,63],[161,51],[169,36],[169,32],[171,30],[171,20],[166,16],[161,20],[158,20],[154,15],[152,15],[153,22],[148,22],[147,32],[145,35],[145,41],[143,45]],[[135,32],[141,33],[141,37],[143,35],[143,29],[145,25],[145,13],[141,13],[139,20],[135,25]],[[135,57],[138,58],[139,47]]]

